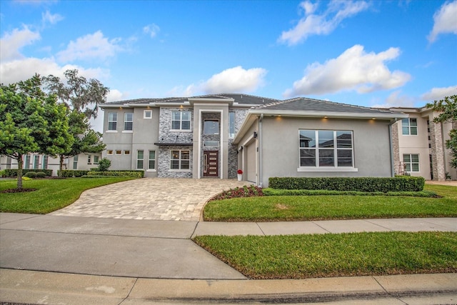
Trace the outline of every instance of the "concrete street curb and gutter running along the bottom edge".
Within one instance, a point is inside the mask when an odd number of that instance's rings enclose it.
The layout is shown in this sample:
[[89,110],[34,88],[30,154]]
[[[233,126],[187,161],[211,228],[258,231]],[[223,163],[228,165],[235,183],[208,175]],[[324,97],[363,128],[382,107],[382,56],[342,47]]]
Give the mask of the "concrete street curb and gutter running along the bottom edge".
[[457,302],[457,274],[297,280],[142,279],[0,269],[0,301],[29,304],[163,302],[331,302],[445,297]]

